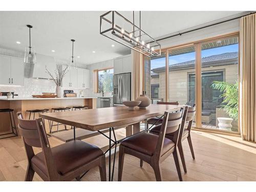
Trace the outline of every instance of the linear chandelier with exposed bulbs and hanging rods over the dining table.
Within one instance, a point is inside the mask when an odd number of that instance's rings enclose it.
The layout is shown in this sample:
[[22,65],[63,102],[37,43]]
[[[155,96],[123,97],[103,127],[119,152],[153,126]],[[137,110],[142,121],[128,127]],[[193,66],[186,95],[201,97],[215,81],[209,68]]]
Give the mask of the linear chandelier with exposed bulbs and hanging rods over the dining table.
[[100,34],[148,57],[161,56],[161,45],[141,29],[141,12],[140,27],[134,24],[134,11],[133,22],[117,11],[104,13],[100,16]]

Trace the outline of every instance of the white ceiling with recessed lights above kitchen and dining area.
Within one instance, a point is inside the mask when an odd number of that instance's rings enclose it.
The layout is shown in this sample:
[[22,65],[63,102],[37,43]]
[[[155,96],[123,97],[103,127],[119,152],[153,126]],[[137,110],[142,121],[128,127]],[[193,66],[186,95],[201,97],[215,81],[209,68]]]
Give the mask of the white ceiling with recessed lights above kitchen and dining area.
[[[0,47],[24,51],[32,25],[36,53],[69,59],[74,38],[77,62],[87,65],[130,53],[130,49],[99,34],[102,11],[0,11]],[[132,11],[120,11],[132,19]],[[242,11],[142,11],[141,28],[153,38],[237,15]],[[138,12],[135,17],[138,18]],[[135,24],[138,24],[136,19]],[[20,41],[21,44],[16,44]],[[111,45],[115,45],[113,48]],[[55,52],[51,52],[55,50]],[[95,51],[96,53],[92,53]]]

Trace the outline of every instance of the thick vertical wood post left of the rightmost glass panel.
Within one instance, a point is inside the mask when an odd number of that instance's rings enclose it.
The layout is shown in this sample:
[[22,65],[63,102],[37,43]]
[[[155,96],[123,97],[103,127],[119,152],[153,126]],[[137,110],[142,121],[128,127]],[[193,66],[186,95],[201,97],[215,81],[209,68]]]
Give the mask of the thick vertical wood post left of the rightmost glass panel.
[[196,127],[202,126],[201,45],[196,45]]

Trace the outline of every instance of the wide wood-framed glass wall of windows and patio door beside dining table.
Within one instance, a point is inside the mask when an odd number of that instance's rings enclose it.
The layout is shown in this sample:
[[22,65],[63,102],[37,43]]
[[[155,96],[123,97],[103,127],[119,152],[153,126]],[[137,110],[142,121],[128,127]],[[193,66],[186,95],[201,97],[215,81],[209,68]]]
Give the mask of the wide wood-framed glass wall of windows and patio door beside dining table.
[[238,58],[238,32],[165,48],[160,57],[151,58],[151,75],[145,78],[152,102],[196,103],[193,126],[239,133]]

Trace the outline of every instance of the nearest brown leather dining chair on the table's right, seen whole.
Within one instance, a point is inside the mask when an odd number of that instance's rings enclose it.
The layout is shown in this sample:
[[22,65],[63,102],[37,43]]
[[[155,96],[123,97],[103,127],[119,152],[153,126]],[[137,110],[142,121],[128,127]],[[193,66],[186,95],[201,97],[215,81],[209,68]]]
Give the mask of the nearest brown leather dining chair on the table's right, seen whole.
[[[177,113],[165,112],[163,122],[159,125],[159,135],[142,132],[124,139],[119,146],[118,181],[122,179],[124,154],[135,156],[142,162],[150,164],[157,181],[162,181],[160,163],[173,154],[179,180],[182,181],[177,144],[181,142],[180,133],[183,132],[186,113],[187,106]],[[166,128],[168,128],[168,133],[174,134],[173,140],[165,138]]]

